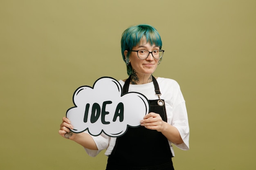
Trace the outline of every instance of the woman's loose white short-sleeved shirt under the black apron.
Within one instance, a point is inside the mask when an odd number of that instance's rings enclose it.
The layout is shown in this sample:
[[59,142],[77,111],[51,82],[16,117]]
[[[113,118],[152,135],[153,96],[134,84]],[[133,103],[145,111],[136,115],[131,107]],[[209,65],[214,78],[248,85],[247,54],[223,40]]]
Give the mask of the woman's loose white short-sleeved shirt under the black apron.
[[[119,80],[121,86],[124,86],[124,81]],[[174,144],[182,150],[189,150],[189,121],[186,112],[186,105],[184,97],[180,91],[179,84],[173,79],[167,79],[158,77],[157,83],[159,85],[161,99],[165,101],[167,123],[175,126],[180,132],[182,137],[182,144]],[[128,92],[138,92],[147,97],[148,100],[158,99],[155,95],[155,87],[153,82],[147,84],[130,84]],[[85,133],[88,133],[85,131]],[[85,148],[88,155],[95,157],[101,152],[101,150],[106,149],[105,155],[109,156],[115,146],[116,137],[109,137],[102,133],[99,136],[92,136],[97,145],[98,150],[90,150]],[[169,141],[171,152],[174,156],[172,142]]]

